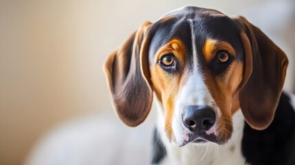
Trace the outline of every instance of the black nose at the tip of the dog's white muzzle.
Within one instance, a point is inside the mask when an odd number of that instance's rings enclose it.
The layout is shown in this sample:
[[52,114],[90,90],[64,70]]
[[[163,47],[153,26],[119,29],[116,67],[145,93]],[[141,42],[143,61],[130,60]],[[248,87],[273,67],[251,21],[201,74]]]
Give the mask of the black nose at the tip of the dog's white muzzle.
[[192,105],[184,107],[182,122],[194,133],[208,131],[215,123],[215,112],[210,107]]

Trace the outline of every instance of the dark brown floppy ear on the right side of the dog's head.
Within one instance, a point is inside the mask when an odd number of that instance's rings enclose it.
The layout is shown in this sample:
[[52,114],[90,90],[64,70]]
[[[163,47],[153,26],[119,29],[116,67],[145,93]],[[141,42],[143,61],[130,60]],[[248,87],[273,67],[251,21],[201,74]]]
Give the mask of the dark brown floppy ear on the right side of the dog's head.
[[244,76],[239,92],[241,110],[253,129],[266,129],[274,118],[281,96],[287,56],[244,17],[233,20],[241,27],[245,52]]

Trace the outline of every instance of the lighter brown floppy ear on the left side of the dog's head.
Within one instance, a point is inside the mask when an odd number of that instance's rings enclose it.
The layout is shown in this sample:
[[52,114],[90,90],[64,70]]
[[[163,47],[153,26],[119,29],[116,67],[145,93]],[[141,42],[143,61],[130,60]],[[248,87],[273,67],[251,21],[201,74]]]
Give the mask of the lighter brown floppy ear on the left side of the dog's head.
[[146,31],[150,25],[149,22],[144,23],[105,62],[114,107],[128,126],[138,126],[145,120],[153,100],[149,80],[144,76],[144,73],[149,74]]

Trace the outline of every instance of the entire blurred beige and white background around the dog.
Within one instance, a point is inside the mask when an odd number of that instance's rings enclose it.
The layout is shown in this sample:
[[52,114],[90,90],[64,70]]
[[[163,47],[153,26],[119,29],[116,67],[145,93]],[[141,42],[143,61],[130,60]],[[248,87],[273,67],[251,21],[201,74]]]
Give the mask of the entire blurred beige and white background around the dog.
[[124,126],[102,63],[144,21],[184,5],[259,26],[287,54],[285,90],[294,92],[292,0],[1,0],[0,164],[146,164],[153,111],[141,126]]

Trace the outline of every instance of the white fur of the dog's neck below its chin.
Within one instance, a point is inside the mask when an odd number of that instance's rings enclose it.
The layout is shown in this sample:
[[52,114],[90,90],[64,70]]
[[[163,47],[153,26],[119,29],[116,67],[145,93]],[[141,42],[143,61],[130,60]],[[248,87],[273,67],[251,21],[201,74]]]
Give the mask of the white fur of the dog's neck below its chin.
[[[227,144],[219,146],[215,143],[187,144],[186,146],[172,146],[164,135],[164,109],[162,104],[155,99],[157,105],[157,130],[166,147],[167,155],[162,164],[245,164],[241,153],[241,138],[243,137],[244,118],[241,110],[233,117],[233,133]],[[230,155],[230,157],[228,157]]]

